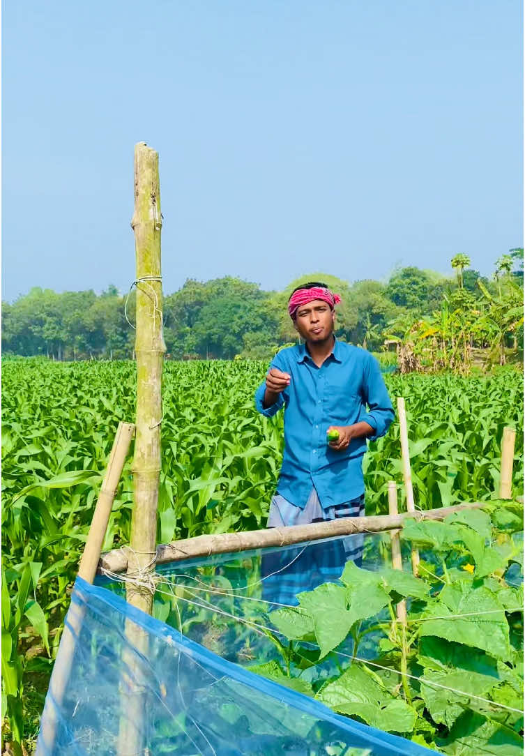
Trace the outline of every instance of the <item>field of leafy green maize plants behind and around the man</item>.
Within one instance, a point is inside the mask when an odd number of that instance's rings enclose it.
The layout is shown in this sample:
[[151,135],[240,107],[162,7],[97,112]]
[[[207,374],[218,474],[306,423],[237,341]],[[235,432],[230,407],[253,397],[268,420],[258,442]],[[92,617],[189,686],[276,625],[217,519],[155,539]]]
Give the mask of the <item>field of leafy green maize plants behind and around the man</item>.
[[[38,726],[101,475],[119,421],[134,420],[134,370],[131,361],[3,364],[2,729],[15,740],[30,741]],[[265,370],[258,361],[165,364],[159,542],[264,527],[283,437],[282,417],[255,411]],[[385,380],[393,400],[406,400],[417,507],[494,498],[509,425],[521,493],[521,373]],[[387,482],[402,482],[397,423],[370,446],[364,470],[366,513],[388,512]],[[130,455],[105,550],[128,541],[132,497]]]

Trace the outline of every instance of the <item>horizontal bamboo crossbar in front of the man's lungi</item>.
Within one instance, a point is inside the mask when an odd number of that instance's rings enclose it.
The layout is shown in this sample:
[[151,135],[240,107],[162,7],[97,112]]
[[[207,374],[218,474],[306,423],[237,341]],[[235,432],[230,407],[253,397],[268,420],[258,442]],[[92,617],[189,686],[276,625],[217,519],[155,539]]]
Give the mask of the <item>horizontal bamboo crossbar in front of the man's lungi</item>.
[[[310,525],[292,525],[289,528],[267,528],[241,533],[218,533],[198,535],[185,541],[174,541],[157,547],[156,563],[178,562],[198,556],[211,556],[269,546],[290,546],[304,541],[320,541],[336,535],[353,533],[381,533],[381,531],[402,528],[407,517],[416,520],[444,519],[447,515],[461,510],[485,507],[488,502],[456,504],[455,507],[440,507],[426,512],[404,512],[400,515],[374,515],[370,517],[343,517],[327,522],[312,522]],[[125,572],[128,567],[128,549],[114,549],[103,554],[99,562],[99,572]]]

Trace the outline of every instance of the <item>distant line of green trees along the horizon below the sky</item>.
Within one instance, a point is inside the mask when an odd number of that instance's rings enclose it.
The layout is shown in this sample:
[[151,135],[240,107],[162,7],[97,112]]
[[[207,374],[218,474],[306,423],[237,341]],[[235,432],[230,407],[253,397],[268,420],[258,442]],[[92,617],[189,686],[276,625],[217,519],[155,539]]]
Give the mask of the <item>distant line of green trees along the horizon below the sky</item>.
[[[482,312],[497,316],[498,308],[509,309],[501,302],[498,305],[498,299],[503,302],[512,287],[523,288],[522,249],[500,257],[490,278],[471,268],[466,255],[456,255],[451,262],[449,277],[412,266],[394,271],[387,283],[347,283],[317,272],[291,281],[279,292],[261,290],[258,284],[235,277],[205,282],[189,279],[164,298],[167,355],[172,359],[269,358],[280,346],[296,341],[286,302],[306,280],[323,280],[341,294],[336,335],[372,350],[381,349],[385,339],[406,342],[415,333],[415,324],[419,330],[425,326],[428,330],[445,317],[444,310],[449,315],[462,311],[477,321]],[[499,319],[505,321],[505,317]],[[520,331],[520,324],[513,325],[517,320],[511,317],[502,324],[503,342],[510,328],[514,344],[517,339],[523,343],[523,321]],[[129,359],[134,356],[132,324],[134,291],[122,296],[110,286],[97,295],[93,290],[57,293],[36,287],[12,304],[2,305],[3,355]],[[475,327],[468,339],[471,346],[475,339],[486,345],[486,334],[476,333]]]

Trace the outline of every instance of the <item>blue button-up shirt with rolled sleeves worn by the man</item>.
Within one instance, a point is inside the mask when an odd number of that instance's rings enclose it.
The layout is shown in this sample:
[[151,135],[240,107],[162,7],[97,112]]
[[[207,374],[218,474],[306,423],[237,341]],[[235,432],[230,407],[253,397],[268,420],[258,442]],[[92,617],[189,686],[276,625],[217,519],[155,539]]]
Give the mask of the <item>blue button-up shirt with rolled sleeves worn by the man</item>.
[[290,375],[289,386],[271,407],[263,407],[266,383],[255,392],[255,406],[266,417],[285,408],[277,492],[301,509],[312,486],[323,509],[363,494],[366,438],[352,438],[346,449],[335,451],[326,443],[326,431],[364,420],[374,429],[371,441],[387,432],[394,410],[378,361],[366,349],[336,339],[321,367],[303,344],[277,352],[270,367]]

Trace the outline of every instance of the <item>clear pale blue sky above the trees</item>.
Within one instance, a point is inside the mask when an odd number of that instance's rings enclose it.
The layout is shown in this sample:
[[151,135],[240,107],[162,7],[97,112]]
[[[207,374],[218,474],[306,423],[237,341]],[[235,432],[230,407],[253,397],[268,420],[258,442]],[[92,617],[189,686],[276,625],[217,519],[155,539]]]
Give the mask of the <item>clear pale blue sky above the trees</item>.
[[235,275],[483,274],[522,246],[520,0],[11,0],[2,294],[134,278],[159,151],[165,293]]

